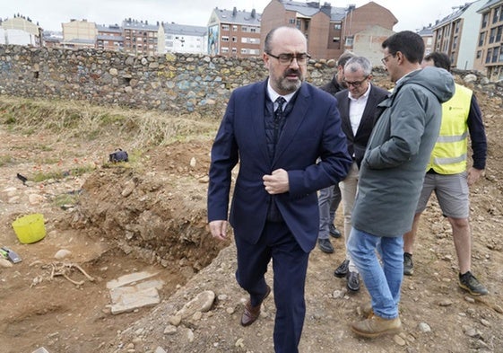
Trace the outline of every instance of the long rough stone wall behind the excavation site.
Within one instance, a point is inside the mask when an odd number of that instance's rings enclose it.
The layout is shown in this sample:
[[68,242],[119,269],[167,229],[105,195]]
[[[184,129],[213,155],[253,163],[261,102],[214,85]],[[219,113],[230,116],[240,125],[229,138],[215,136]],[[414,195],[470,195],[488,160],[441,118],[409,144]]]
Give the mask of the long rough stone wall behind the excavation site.
[[[334,60],[311,60],[308,81],[325,84]],[[103,106],[216,114],[232,89],[265,79],[262,58],[193,54],[135,57],[97,49],[0,46],[0,93]]]

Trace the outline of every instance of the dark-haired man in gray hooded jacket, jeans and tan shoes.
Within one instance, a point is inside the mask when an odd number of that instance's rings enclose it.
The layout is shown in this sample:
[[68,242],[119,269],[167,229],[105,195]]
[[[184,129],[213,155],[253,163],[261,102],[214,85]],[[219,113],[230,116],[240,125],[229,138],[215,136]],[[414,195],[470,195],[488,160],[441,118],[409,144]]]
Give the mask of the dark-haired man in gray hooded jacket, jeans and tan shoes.
[[391,96],[378,105],[385,110],[361,162],[348,243],[351,259],[371,296],[369,317],[351,325],[352,331],[364,337],[402,328],[398,304],[403,234],[411,230],[426,164],[438,137],[441,103],[455,91],[446,70],[421,69],[424,43],[418,34],[395,33],[382,48],[383,64],[396,85]]

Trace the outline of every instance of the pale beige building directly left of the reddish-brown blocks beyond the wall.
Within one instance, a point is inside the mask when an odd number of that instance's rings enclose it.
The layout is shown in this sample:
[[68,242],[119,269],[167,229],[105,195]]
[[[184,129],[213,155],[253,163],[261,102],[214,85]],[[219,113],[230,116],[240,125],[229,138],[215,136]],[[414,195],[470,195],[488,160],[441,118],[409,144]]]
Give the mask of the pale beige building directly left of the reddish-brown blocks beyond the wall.
[[95,48],[98,35],[95,22],[72,19],[70,22],[62,23],[61,26],[63,28],[61,45],[64,48]]

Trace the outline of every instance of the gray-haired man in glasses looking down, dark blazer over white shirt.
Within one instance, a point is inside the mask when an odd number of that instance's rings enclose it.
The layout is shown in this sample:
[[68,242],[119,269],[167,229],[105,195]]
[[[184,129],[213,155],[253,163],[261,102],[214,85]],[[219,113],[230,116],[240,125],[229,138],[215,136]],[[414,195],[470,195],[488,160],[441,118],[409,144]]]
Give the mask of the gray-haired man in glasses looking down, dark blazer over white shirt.
[[[344,83],[348,89],[335,94],[343,121],[343,131],[347,137],[348,152],[353,159],[350,172],[339,184],[343,199],[346,245],[351,234],[351,212],[356,198],[361,159],[378,114],[382,111],[377,108],[377,104],[384,101],[389,94],[386,90],[370,84],[371,80],[372,65],[369,59],[352,57],[344,66]],[[335,269],[334,276],[347,278],[349,290],[353,292],[360,290],[360,274],[351,261],[347,246],[346,258]]]

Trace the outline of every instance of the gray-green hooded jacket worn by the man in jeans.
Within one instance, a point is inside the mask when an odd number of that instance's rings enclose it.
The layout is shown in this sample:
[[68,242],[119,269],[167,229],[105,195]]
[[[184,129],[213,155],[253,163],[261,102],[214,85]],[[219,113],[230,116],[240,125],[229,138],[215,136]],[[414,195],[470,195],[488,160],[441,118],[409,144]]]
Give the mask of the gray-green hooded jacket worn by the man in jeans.
[[455,92],[451,74],[428,66],[403,77],[369,139],[352,211],[354,228],[377,236],[411,230],[429,155],[442,118],[441,103]]

